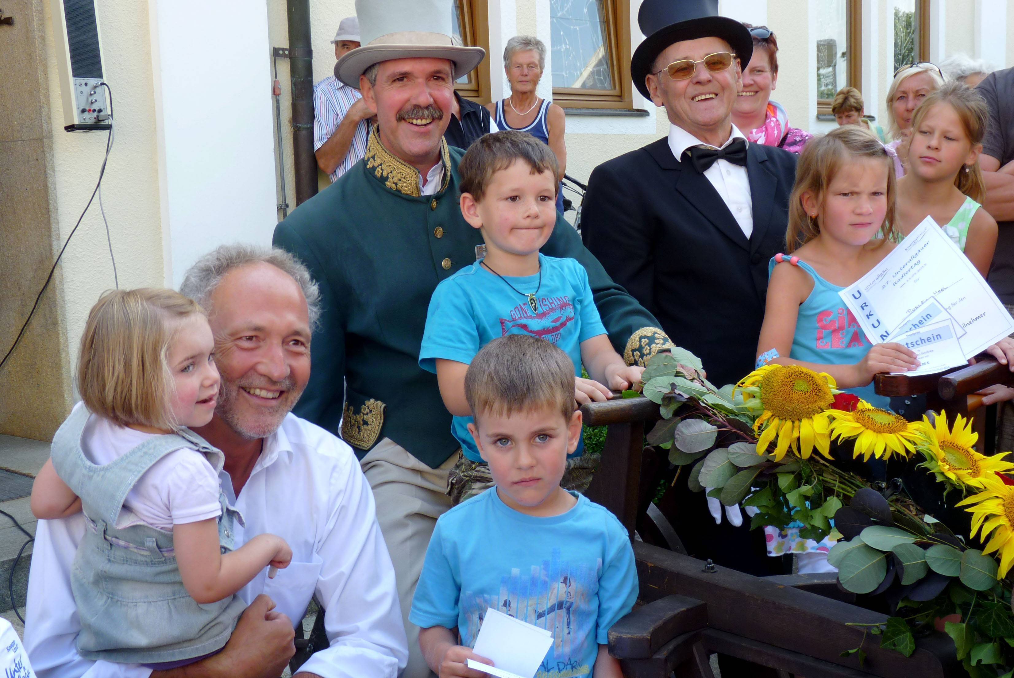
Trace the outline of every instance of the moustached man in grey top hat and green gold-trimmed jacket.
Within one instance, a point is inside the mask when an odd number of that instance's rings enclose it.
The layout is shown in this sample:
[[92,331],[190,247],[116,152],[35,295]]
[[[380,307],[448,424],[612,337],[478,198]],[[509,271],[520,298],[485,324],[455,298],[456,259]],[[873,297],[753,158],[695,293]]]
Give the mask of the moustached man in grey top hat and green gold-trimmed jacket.
[[[340,435],[357,448],[407,619],[430,534],[450,506],[447,472],[459,450],[436,375],[419,367],[426,312],[437,284],[474,262],[483,244],[458,207],[463,152],[442,137],[453,82],[485,53],[451,46],[450,0],[357,0],[356,9],[364,47],[343,57],[336,73],[362,88],[377,127],[366,156],[279,224],[274,243],[309,268],[323,309],[295,412],[331,432],[341,423]],[[402,45],[390,44],[391,33]],[[446,45],[426,46],[434,33],[447,35]],[[628,363],[643,365],[669,346],[562,215],[542,251],[585,267]],[[428,675],[418,628],[406,627],[412,657],[404,675]]]

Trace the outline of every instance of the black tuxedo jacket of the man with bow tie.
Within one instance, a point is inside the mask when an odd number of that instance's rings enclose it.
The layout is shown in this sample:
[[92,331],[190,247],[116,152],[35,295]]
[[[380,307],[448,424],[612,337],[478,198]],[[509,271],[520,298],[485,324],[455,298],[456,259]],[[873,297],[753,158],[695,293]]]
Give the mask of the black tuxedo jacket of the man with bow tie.
[[718,386],[753,369],[768,261],[785,250],[796,174],[792,153],[749,144],[746,154],[748,240],[708,177],[673,157],[667,138],[596,167],[581,209],[585,246]]

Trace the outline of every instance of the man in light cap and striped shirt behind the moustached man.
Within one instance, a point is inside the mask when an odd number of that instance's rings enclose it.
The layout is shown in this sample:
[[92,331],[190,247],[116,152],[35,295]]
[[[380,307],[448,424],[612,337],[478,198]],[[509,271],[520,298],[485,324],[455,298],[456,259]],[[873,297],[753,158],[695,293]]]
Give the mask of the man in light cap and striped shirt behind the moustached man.
[[[359,47],[359,19],[347,16],[331,42],[335,59]],[[366,153],[373,117],[359,90],[330,75],[313,87],[313,154],[334,181]]]

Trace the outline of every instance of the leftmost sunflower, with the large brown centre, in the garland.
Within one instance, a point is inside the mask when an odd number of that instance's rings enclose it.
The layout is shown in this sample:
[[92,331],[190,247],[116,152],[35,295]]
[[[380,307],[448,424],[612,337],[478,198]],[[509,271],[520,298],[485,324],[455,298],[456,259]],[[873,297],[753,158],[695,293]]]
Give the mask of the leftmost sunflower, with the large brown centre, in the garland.
[[743,399],[756,397],[764,413],[753,423],[753,432],[763,430],[757,440],[757,454],[778,437],[775,461],[792,447],[803,459],[816,447],[830,459],[830,415],[825,410],[835,401],[831,388],[835,379],[829,374],[817,374],[798,365],[766,365],[739,382],[737,389]]

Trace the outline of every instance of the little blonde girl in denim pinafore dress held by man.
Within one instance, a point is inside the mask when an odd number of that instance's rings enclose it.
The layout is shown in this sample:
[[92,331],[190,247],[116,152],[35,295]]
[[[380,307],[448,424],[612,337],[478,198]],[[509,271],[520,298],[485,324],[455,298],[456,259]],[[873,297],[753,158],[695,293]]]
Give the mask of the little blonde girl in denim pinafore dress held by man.
[[[75,405],[53,439],[31,510],[83,510],[71,572],[83,659],[169,669],[220,651],[245,605],[235,594],[292,558],[278,536],[232,550],[224,457],[185,427],[207,425],[219,376],[208,319],[171,290],[103,294],[88,315]],[[272,571],[269,571],[272,574]]]

